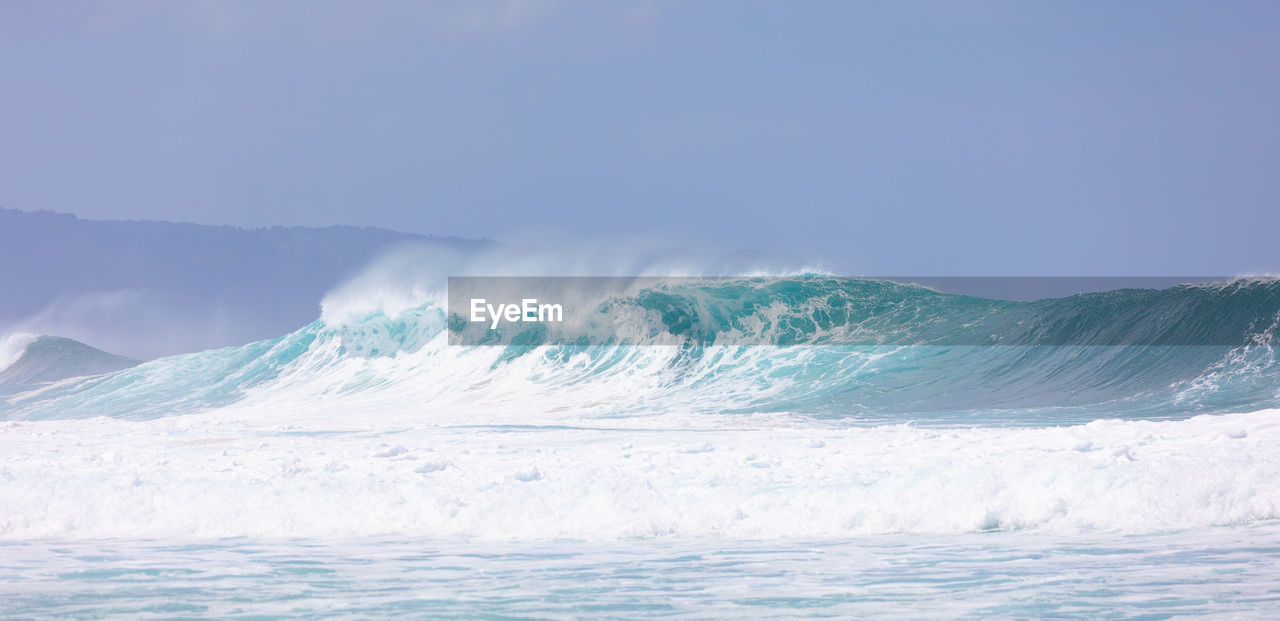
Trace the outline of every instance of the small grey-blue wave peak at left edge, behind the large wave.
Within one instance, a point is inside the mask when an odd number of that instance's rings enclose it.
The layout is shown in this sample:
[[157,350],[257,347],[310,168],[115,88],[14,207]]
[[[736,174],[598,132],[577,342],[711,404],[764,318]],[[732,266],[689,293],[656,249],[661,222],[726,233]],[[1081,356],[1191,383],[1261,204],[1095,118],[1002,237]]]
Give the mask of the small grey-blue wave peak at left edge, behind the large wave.
[[13,364],[0,369],[0,385],[44,384],[118,371],[137,364],[137,360],[108,353],[79,341],[46,334],[35,337]]

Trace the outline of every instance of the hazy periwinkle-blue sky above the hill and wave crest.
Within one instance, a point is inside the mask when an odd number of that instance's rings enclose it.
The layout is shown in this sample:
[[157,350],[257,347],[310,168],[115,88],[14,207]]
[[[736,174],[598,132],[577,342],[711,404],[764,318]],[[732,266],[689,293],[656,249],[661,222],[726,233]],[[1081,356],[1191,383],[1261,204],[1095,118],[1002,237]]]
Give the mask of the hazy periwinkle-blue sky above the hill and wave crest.
[[0,0],[0,206],[1280,271],[1280,3]]

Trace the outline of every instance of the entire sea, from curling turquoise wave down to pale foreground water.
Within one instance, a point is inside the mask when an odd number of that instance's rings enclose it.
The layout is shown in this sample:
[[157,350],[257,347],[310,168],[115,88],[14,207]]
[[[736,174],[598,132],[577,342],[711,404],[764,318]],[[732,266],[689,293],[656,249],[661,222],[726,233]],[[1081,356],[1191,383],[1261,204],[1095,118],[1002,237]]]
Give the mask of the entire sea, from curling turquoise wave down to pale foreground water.
[[1042,302],[682,282],[602,301],[627,338],[590,344],[449,344],[443,300],[365,302],[0,388],[0,613],[1254,618],[1280,597],[1275,280]]

